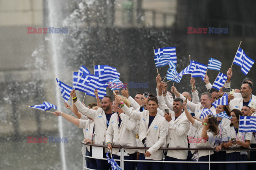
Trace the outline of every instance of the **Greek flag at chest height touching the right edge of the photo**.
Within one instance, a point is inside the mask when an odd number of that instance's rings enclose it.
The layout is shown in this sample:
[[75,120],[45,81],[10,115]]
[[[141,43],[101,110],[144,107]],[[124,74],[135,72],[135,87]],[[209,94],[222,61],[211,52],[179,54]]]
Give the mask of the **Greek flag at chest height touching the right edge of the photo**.
[[240,116],[239,132],[256,132],[256,117]]

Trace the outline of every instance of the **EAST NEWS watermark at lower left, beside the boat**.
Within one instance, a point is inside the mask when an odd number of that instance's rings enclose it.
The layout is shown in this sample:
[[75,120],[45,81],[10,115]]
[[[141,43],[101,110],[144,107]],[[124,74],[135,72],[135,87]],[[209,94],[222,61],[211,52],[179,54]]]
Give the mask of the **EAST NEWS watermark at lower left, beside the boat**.
[[28,137],[27,143],[68,143],[68,138],[56,138],[56,137],[35,138],[35,137]]

